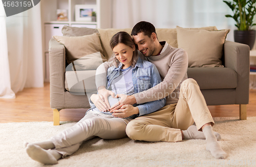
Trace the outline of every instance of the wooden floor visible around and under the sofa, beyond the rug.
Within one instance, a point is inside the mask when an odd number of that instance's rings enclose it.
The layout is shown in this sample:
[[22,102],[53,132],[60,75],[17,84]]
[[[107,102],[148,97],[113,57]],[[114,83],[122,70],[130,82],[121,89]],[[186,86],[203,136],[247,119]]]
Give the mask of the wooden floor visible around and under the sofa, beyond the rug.
[[[239,105],[208,106],[213,117],[239,116]],[[256,90],[250,90],[247,116],[256,116]],[[63,109],[60,121],[79,121],[87,109]],[[53,121],[50,84],[44,88],[25,88],[16,99],[0,99],[0,123]]]

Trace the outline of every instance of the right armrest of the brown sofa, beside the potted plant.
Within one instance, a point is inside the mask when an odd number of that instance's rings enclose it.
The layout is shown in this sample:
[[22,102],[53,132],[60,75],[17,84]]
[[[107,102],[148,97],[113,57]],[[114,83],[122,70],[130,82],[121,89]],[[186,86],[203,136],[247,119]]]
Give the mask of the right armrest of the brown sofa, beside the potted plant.
[[225,41],[224,66],[237,72],[236,101],[234,104],[248,104],[249,102],[249,46],[242,43]]

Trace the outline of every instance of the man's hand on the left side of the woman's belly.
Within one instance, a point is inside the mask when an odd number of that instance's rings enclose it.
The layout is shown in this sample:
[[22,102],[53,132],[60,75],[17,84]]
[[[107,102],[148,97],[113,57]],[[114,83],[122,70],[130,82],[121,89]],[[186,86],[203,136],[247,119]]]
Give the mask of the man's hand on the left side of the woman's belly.
[[[97,105],[93,101],[92,102],[95,104],[95,106],[98,109],[100,109],[100,110],[103,109],[101,111],[109,111],[110,103],[109,103],[108,97],[111,95],[114,98],[115,93],[111,90],[107,90],[104,86],[100,86],[98,88],[98,95],[99,95],[100,99],[97,99],[96,103],[100,108],[98,108]],[[92,100],[92,97],[91,97],[91,100]]]

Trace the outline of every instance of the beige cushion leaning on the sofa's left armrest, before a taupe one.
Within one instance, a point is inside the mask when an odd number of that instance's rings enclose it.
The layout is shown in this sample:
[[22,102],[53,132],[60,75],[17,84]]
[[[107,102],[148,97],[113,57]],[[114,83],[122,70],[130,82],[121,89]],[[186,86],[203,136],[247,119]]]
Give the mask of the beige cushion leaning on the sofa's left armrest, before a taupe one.
[[97,52],[100,52],[102,62],[106,61],[105,57],[103,56],[103,50],[98,33],[79,37],[53,36],[53,38],[65,45],[68,63],[72,63],[79,58]]

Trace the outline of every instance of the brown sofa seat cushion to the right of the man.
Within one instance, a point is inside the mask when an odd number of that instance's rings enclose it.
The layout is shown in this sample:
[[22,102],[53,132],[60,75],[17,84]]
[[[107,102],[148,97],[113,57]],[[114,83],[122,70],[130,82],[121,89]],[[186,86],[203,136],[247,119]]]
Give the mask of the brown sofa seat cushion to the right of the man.
[[237,73],[226,67],[189,67],[187,77],[197,81],[200,89],[228,89],[237,87]]

